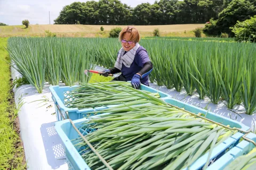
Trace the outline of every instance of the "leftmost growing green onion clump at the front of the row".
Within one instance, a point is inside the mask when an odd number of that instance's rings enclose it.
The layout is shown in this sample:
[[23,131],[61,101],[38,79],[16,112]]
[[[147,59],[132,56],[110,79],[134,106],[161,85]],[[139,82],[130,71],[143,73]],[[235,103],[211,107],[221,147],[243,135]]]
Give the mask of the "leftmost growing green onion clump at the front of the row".
[[42,93],[46,69],[44,44],[38,38],[10,38],[7,51],[17,69],[29,83]]

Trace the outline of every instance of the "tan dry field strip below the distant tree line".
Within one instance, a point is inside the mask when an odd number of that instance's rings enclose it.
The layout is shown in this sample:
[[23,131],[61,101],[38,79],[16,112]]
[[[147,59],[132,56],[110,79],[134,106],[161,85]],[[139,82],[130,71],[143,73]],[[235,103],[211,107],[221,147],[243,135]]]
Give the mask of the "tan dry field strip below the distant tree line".
[[[54,33],[100,33],[100,27],[104,28],[103,32],[110,31],[111,28],[121,27],[126,25],[29,25],[25,28],[24,25],[7,25],[0,27],[0,36],[7,35],[38,35],[44,33],[45,30],[50,30]],[[190,31],[198,27],[204,27],[204,24],[177,24],[177,25],[134,25],[142,34],[150,35],[154,29],[158,28],[160,32],[180,32]]]

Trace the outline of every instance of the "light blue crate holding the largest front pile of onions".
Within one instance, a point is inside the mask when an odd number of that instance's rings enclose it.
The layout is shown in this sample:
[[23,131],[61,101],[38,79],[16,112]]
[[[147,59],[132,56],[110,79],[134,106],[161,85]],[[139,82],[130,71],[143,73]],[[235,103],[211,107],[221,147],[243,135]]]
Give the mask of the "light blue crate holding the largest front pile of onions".
[[[185,108],[187,111],[193,112],[193,113],[203,113],[206,114],[206,111],[201,108],[197,108],[195,106],[188,105],[186,103],[183,103],[179,100],[175,99],[165,99],[167,103],[173,104],[175,106]],[[230,120],[226,117],[213,114],[211,112],[208,112],[206,114],[207,118],[211,118],[211,120],[222,123],[224,125],[230,125],[231,127],[240,128],[242,130],[249,130],[250,128],[248,126],[243,125],[242,123]],[[81,129],[81,123],[86,121],[86,118],[83,118],[81,120],[74,121],[76,127],[82,132],[82,134],[90,133],[90,129]],[[78,151],[74,147],[74,145],[71,143],[71,140],[76,139],[79,137],[77,132],[74,130],[74,128],[71,126],[69,120],[60,121],[55,123],[55,129],[57,130],[58,134],[60,135],[60,138],[62,139],[65,148],[66,148],[66,155],[69,162],[73,165],[74,169],[86,169],[89,168],[87,164],[84,162],[82,157],[79,155]],[[209,166],[215,161],[218,160],[222,155],[224,155],[228,150],[236,146],[239,142],[239,139],[243,136],[243,133],[237,132],[236,134],[232,135],[230,138],[226,139],[224,142],[222,142],[220,145],[214,148],[212,155],[211,155],[211,162]],[[205,154],[204,156],[200,157],[196,160],[196,162],[190,166],[190,170],[192,169],[202,169],[202,167],[205,165],[207,160],[208,154]],[[211,167],[211,166],[210,166]]]

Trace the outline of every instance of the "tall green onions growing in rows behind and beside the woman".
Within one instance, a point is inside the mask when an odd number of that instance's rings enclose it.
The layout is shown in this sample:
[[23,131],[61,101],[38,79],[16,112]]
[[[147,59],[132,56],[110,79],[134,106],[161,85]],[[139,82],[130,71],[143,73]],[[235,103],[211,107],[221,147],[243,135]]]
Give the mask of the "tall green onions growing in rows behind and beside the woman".
[[[256,110],[256,45],[233,41],[146,38],[140,44],[153,62],[150,81],[184,88],[187,95],[242,104],[246,114]],[[110,38],[12,37],[7,50],[17,70],[42,92],[44,82],[87,83],[85,69],[113,67],[121,44]]]

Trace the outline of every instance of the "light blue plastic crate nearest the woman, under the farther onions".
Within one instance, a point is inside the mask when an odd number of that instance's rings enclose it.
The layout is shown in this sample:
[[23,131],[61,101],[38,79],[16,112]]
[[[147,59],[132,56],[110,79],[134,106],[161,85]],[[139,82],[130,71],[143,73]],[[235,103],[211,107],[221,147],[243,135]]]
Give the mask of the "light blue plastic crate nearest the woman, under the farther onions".
[[[73,87],[60,87],[60,86],[50,86],[50,90],[52,93],[52,100],[55,105],[55,113],[57,117],[57,121],[63,120],[62,116],[66,118],[70,118],[71,120],[78,120],[80,118],[83,118],[86,116],[86,112],[92,112],[99,109],[104,109],[108,107],[95,107],[95,108],[85,108],[85,109],[78,109],[78,108],[68,108],[64,105],[64,97],[68,97],[69,91],[73,90],[77,86]],[[165,94],[164,92],[158,91],[156,89],[153,89],[151,87],[145,86],[141,84],[140,87],[141,90],[146,90],[152,93],[158,92],[160,95],[160,98],[169,98],[170,96]],[[66,96],[65,96],[66,94]],[[66,114],[68,112],[68,115]],[[88,115],[88,116],[94,116]],[[86,116],[86,117],[88,117]]]

